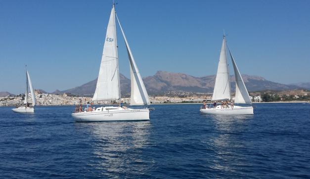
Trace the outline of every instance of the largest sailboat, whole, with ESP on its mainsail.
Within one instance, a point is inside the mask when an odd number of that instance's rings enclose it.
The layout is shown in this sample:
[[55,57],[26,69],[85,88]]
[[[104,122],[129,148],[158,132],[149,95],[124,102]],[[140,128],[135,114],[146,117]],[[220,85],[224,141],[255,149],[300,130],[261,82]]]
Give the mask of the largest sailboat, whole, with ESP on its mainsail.
[[132,109],[120,106],[98,107],[93,111],[76,112],[72,114],[77,122],[94,121],[141,121],[150,119],[150,99],[140,76],[139,70],[133,58],[133,53],[129,47],[121,23],[115,12],[114,3],[107,27],[100,70],[95,92],[92,101],[112,101],[121,100],[120,74],[117,52],[116,24],[118,21],[123,38],[126,44],[131,73],[131,105],[144,106],[144,108]]

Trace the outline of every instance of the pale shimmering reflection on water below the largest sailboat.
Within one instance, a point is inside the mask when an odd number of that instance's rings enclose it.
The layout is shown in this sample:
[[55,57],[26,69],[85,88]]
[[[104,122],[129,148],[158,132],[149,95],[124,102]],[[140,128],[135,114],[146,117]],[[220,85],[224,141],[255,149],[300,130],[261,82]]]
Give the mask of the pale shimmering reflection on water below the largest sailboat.
[[[143,162],[142,149],[149,144],[150,122],[76,123],[76,128],[94,138],[92,143],[96,169],[110,174],[128,172],[143,174],[149,166]],[[104,174],[106,175],[106,174]],[[112,176],[110,176],[112,177]],[[115,177],[115,176],[113,176]]]

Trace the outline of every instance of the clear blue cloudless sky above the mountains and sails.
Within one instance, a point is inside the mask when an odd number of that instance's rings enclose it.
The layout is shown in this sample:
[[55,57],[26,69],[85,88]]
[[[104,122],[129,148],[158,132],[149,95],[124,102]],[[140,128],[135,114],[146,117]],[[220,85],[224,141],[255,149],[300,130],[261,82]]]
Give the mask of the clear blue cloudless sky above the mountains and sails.
[[[224,29],[242,74],[310,82],[309,0],[116,2],[142,77],[216,74]],[[25,64],[34,88],[47,92],[94,80],[111,7],[112,0],[0,0],[0,91],[24,92]],[[120,73],[129,77],[117,29]]]

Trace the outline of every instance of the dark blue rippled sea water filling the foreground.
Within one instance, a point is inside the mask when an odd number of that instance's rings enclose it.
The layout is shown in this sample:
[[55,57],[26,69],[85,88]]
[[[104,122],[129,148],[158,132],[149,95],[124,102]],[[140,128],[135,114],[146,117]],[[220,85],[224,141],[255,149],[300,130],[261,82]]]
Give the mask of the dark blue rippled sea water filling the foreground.
[[0,178],[310,178],[310,104],[254,116],[153,105],[149,122],[76,123],[74,107],[0,108]]

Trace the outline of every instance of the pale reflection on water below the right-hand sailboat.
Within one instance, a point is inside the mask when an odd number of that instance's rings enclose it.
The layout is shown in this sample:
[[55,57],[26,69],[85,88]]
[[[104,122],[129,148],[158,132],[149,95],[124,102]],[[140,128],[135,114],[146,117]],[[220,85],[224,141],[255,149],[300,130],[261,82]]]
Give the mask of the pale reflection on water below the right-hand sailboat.
[[[236,166],[245,166],[246,158],[238,153],[244,148],[246,144],[242,136],[246,130],[248,121],[253,118],[253,115],[210,115],[209,118],[215,125],[216,134],[210,139],[210,144],[216,151],[218,161],[214,162],[211,168],[225,172],[235,172]],[[234,165],[227,165],[227,163],[234,163]]]

